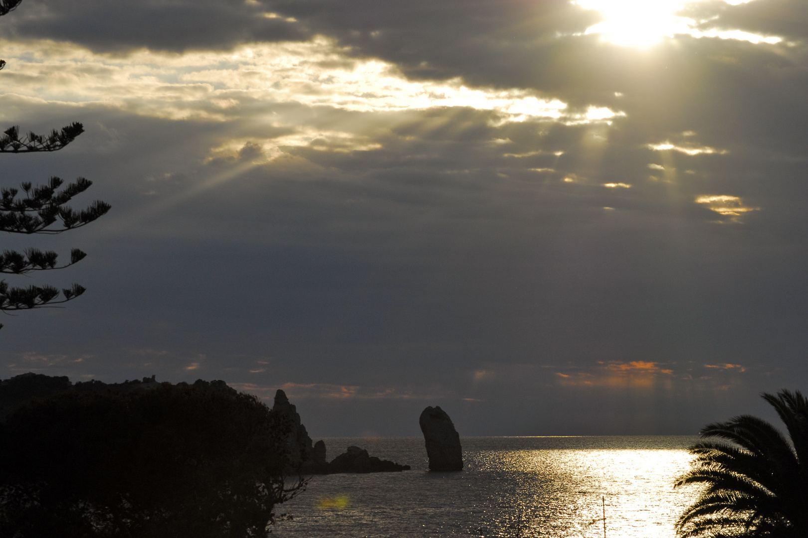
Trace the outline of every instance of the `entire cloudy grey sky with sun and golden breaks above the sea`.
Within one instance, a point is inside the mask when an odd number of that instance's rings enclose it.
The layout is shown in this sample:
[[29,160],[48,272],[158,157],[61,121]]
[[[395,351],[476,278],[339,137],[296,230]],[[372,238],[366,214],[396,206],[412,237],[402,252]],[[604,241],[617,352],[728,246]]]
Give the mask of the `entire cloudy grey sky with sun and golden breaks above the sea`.
[[112,210],[0,377],[282,388],[314,438],[691,435],[808,390],[808,4],[23,0],[0,155]]

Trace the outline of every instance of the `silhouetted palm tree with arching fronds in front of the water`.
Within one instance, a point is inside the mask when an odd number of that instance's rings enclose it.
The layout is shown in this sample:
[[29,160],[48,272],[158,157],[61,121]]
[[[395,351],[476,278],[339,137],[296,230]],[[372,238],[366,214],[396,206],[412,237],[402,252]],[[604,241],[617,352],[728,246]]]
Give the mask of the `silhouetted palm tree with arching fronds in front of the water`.
[[705,486],[676,523],[683,538],[808,536],[808,400],[789,390],[762,396],[790,441],[751,415],[702,429],[692,469],[676,482]]

